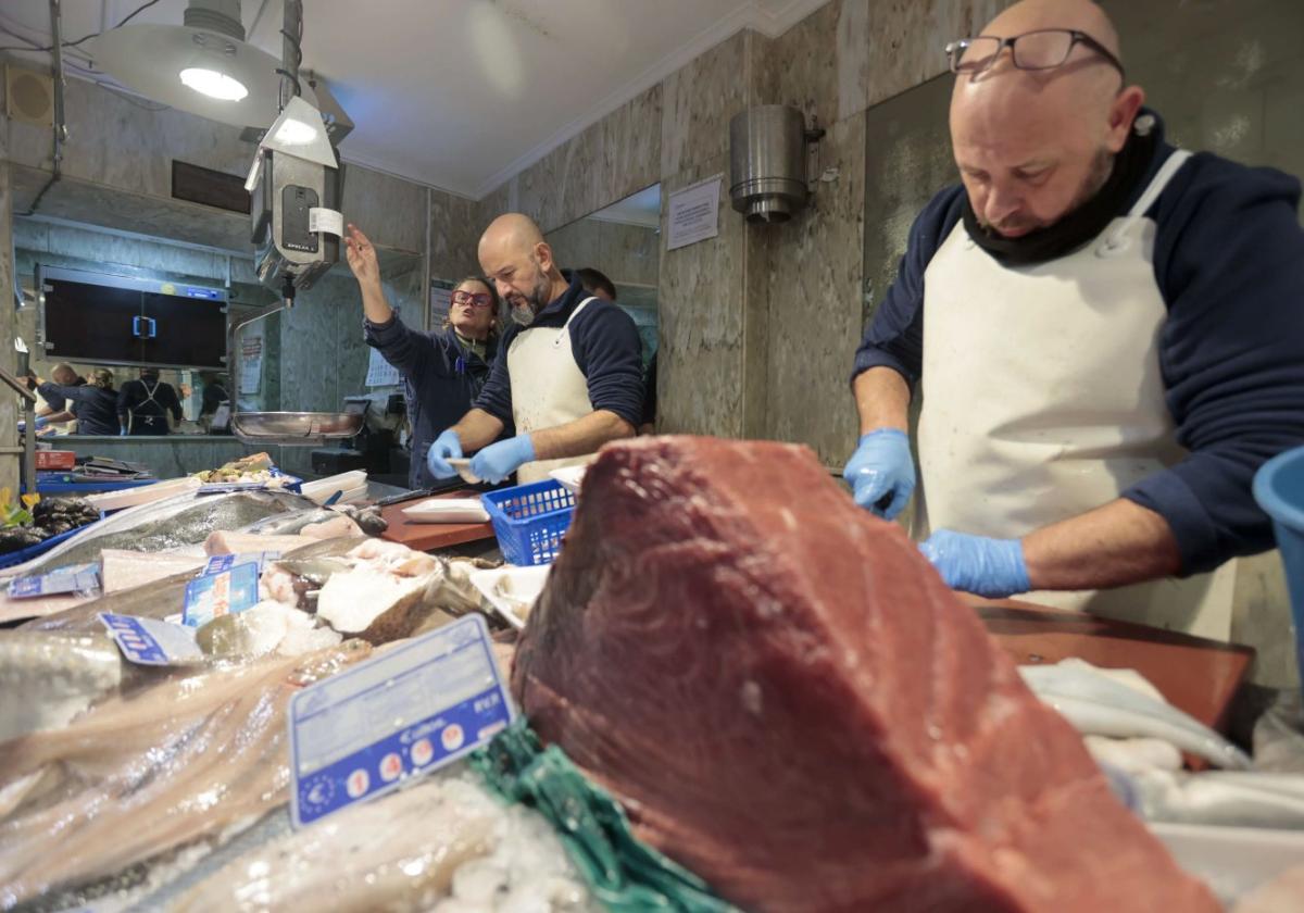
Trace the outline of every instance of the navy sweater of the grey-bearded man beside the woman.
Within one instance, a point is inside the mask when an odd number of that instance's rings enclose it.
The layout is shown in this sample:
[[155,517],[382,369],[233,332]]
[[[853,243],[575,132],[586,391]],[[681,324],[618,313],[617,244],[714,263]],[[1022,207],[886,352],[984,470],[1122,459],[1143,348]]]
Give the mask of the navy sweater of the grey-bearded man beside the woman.
[[[511,381],[507,377],[507,350],[522,333],[540,326],[562,326],[588,292],[579,275],[562,273],[570,287],[535,316],[529,326],[512,325],[503,334],[489,380],[476,399],[476,408],[503,424],[511,424]],[[593,410],[606,410],[638,428],[643,415],[643,343],[634,318],[605,301],[592,301],[570,325],[571,353],[588,381],[588,400]],[[546,377],[539,378],[546,383]]]

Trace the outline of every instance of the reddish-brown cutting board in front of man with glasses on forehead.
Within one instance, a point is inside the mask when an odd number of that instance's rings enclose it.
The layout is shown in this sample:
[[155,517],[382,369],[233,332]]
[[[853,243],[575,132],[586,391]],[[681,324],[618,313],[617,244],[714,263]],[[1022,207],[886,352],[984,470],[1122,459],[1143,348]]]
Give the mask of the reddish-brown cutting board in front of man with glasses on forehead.
[[1016,600],[964,599],[1020,665],[1076,656],[1110,669],[1136,669],[1172,706],[1223,733],[1232,698],[1254,660],[1249,647],[1146,625]]

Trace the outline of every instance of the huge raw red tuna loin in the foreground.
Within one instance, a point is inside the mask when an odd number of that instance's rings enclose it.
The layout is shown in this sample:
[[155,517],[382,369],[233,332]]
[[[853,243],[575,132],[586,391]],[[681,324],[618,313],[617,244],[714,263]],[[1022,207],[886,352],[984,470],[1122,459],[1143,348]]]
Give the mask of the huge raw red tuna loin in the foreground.
[[1218,909],[805,447],[605,447],[512,689],[643,839],[747,909]]

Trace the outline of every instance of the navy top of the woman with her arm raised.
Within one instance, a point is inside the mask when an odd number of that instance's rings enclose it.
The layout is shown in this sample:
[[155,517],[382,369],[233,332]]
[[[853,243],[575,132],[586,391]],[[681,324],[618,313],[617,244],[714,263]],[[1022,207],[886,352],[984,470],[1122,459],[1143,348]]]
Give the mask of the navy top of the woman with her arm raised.
[[408,470],[411,488],[430,488],[434,476],[425,466],[425,455],[434,438],[467,413],[489,376],[493,360],[490,340],[486,360],[463,348],[452,327],[438,333],[409,329],[398,314],[387,323],[363,321],[366,344],[398,369],[403,378],[408,425],[412,428],[412,463]]

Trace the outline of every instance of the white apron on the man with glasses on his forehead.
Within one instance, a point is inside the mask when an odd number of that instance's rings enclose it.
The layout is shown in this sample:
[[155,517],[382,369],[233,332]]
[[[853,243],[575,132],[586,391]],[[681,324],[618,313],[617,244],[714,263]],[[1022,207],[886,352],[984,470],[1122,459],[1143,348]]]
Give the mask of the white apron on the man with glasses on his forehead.
[[[1124,218],[1089,245],[1001,266],[964,223],[925,273],[921,523],[1022,537],[1112,501],[1178,463],[1159,373],[1167,309],[1145,211],[1174,153]],[[1034,592],[1030,601],[1227,639],[1232,562],[1184,580]]]

